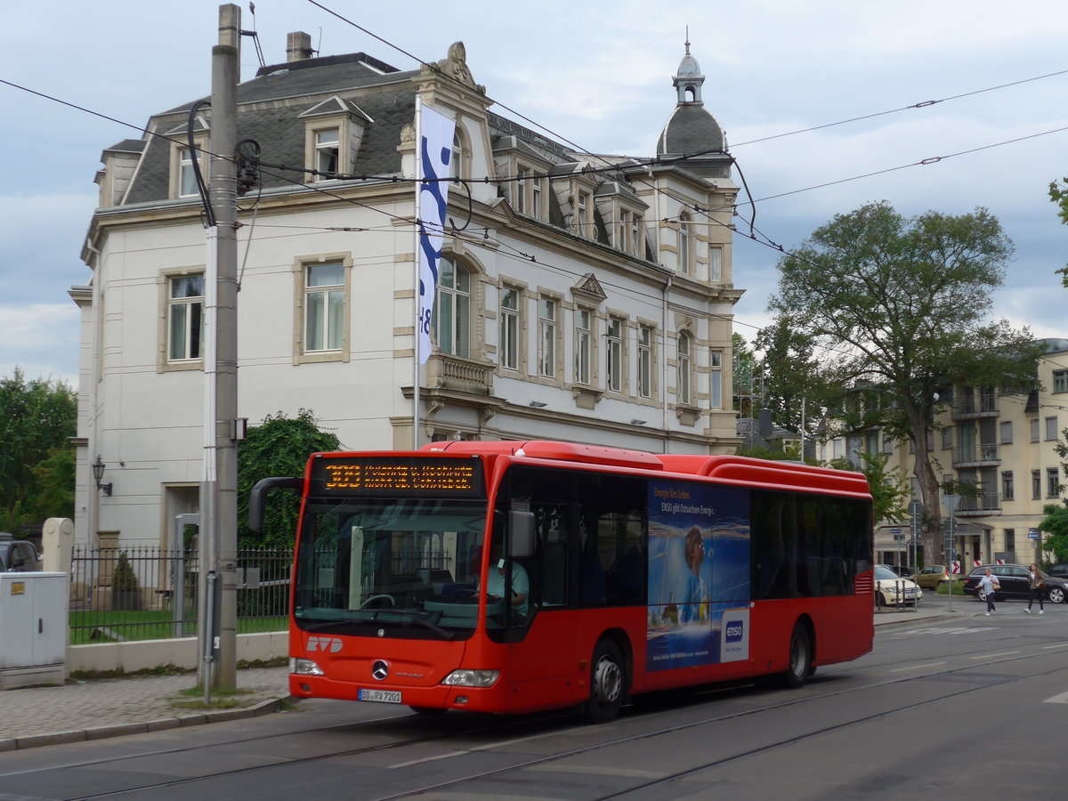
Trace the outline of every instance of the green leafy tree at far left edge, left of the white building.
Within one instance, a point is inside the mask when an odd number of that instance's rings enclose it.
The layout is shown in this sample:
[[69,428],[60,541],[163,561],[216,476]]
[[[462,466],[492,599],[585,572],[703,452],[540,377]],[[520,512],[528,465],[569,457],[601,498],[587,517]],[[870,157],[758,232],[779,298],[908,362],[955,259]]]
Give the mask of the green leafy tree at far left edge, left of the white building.
[[78,395],[63,381],[28,381],[19,367],[0,379],[0,511],[5,516],[21,515],[29,522],[38,514],[42,481],[48,478],[47,468],[36,468],[54,458],[53,449],[70,447],[77,421]]

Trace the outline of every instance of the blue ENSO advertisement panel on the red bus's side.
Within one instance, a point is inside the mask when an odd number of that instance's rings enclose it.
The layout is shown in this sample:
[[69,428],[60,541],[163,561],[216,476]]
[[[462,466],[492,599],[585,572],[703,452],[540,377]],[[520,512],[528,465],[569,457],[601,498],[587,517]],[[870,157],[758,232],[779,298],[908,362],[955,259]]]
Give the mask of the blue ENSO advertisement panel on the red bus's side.
[[646,670],[749,658],[749,492],[649,483]]

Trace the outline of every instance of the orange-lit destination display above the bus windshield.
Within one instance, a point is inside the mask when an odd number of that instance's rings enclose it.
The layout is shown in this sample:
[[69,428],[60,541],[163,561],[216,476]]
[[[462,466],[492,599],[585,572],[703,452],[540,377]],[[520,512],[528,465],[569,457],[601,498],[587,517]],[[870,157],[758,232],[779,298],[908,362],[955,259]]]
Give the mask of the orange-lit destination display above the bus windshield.
[[483,494],[481,459],[324,458],[312,470],[313,487],[326,494]]

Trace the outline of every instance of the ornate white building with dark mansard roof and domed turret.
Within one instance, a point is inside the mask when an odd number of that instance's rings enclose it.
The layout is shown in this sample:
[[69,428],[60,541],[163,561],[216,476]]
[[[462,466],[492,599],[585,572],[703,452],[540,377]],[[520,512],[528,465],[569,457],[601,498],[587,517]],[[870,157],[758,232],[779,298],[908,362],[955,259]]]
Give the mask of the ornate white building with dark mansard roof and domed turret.
[[[364,53],[238,88],[258,144],[239,199],[239,415],[314,412],[352,450],[552,438],[656,452],[737,444],[737,188],[687,52],[653,158],[579,153],[488,110],[462,44],[398,72]],[[456,121],[435,348],[413,431],[415,95]],[[76,539],[168,546],[202,475],[207,248],[190,109],[104,152],[82,258]],[[666,107],[666,104],[665,104]],[[192,114],[207,147],[210,111]],[[253,145],[244,144],[245,153]],[[305,172],[307,171],[307,172]],[[489,180],[484,180],[488,177]],[[470,190],[470,201],[468,191]],[[105,465],[96,488],[91,462]]]

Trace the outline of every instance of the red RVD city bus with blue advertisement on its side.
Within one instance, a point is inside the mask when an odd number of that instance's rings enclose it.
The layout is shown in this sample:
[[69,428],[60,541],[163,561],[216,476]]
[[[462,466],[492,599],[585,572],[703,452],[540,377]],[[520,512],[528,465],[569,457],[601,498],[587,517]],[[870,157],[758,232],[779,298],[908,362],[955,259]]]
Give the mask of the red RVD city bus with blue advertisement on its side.
[[867,654],[860,473],[567,442],[317,453],[292,588],[296,697],[520,713]]

